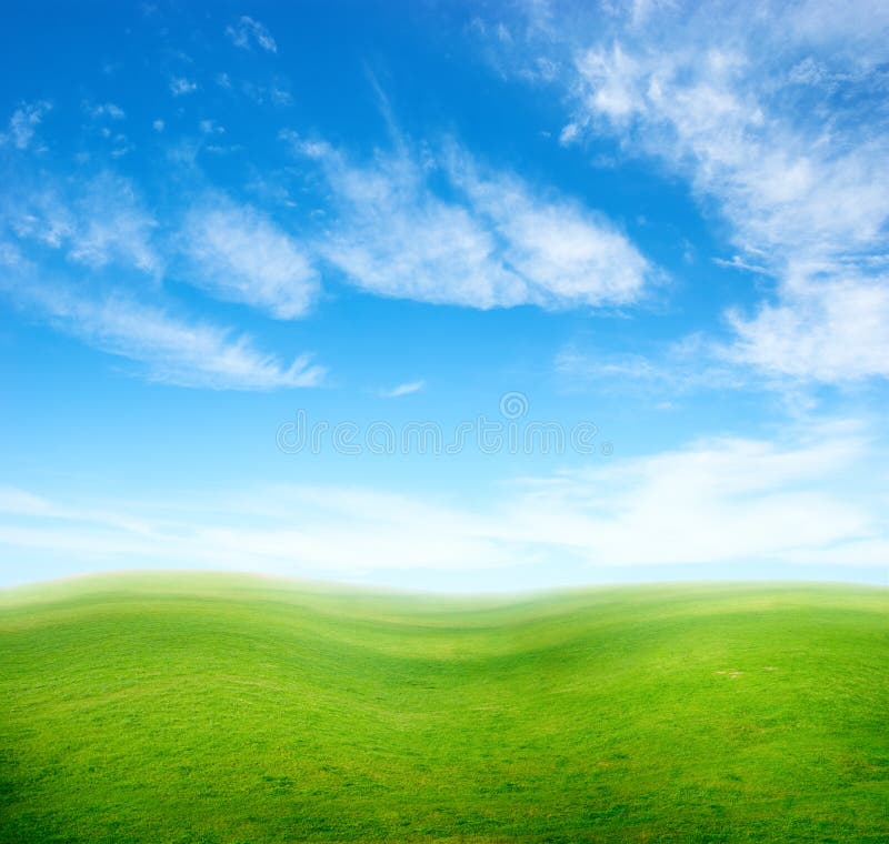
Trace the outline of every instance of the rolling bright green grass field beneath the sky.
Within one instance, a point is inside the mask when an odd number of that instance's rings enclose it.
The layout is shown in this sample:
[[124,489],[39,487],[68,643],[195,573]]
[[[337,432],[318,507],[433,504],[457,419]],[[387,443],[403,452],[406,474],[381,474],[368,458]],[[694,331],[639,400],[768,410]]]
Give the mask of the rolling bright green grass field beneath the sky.
[[886,841],[889,593],[0,592],[0,842]]

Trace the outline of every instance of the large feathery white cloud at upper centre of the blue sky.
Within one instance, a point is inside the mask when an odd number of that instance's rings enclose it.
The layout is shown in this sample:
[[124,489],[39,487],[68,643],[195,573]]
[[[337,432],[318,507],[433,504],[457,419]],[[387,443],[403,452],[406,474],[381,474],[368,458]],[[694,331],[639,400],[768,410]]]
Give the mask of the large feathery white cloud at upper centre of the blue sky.
[[[336,218],[321,252],[377,294],[482,309],[615,305],[656,278],[601,217],[485,170],[453,144],[438,158],[402,144],[358,165],[324,142],[284,137],[330,185]],[[447,198],[432,188],[442,177]]]

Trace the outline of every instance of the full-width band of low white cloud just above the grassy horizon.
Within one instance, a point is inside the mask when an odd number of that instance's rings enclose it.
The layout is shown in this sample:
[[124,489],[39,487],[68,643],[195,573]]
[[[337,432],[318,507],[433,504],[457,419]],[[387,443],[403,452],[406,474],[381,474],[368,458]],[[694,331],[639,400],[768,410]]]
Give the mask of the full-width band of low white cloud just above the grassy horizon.
[[[795,440],[792,444],[789,442]],[[68,561],[258,570],[313,576],[428,570],[589,569],[733,563],[885,570],[886,499],[860,430],[827,425],[788,441],[713,439],[507,485],[488,508],[362,489],[279,485],[83,508],[0,495],[0,542]],[[41,518],[40,524],[29,521]],[[14,516],[14,518],[13,518]],[[53,522],[52,518],[57,521]],[[348,530],[344,529],[348,526]],[[70,562],[68,563],[71,564]],[[790,566],[788,569],[787,566]],[[460,573],[465,575],[460,575]],[[396,573],[396,574],[392,574]],[[501,584],[509,589],[511,581]]]

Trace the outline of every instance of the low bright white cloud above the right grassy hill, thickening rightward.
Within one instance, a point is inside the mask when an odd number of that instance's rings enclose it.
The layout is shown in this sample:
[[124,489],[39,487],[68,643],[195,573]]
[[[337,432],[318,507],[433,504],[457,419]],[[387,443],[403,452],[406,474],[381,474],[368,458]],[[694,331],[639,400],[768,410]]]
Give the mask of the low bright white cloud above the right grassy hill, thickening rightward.
[[889,552],[889,530],[875,501],[842,485],[855,488],[850,471],[865,460],[865,442],[842,431],[809,439],[717,439],[567,473],[531,488],[513,523],[528,541],[573,549],[599,565],[872,564],[853,547],[878,542]]

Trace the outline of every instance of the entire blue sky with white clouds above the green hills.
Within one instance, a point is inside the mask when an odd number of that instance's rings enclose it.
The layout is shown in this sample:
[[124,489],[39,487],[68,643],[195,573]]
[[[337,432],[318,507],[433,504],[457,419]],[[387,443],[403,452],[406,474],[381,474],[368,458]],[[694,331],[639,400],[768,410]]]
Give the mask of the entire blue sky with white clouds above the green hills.
[[887,582],[886,4],[4,17],[0,583]]

